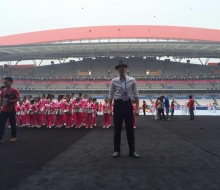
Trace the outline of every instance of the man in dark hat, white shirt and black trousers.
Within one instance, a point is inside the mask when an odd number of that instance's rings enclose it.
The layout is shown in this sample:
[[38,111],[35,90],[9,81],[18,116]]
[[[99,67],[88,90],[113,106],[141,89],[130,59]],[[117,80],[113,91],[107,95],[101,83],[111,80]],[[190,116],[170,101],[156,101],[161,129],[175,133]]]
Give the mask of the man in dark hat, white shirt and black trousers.
[[112,115],[112,100],[114,99],[114,154],[113,158],[120,156],[121,130],[123,120],[125,122],[127,139],[129,145],[129,156],[139,158],[135,152],[134,128],[133,128],[133,108],[131,97],[135,98],[136,110],[135,115],[139,115],[139,93],[134,78],[126,75],[127,65],[119,61],[115,67],[119,72],[119,77],[112,79],[110,84],[108,102],[108,114]]

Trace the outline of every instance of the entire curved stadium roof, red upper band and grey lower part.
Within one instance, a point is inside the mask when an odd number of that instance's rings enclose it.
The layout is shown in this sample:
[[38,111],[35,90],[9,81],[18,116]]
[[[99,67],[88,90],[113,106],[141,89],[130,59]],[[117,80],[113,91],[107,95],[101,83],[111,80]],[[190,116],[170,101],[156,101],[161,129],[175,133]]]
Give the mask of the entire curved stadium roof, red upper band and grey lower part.
[[97,26],[0,37],[0,61],[131,55],[220,58],[220,30]]

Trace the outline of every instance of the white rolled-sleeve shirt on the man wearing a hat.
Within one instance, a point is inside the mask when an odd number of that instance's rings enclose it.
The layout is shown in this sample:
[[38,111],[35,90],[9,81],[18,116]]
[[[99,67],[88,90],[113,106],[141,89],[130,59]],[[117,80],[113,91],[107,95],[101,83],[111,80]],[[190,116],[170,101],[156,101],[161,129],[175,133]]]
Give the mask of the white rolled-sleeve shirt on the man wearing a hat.
[[[111,99],[122,99],[122,90],[126,90],[128,98],[139,97],[137,90],[137,84],[133,77],[125,76],[126,82],[121,82],[120,77],[112,79],[110,83],[109,95],[108,98]],[[125,88],[126,86],[126,88]]]

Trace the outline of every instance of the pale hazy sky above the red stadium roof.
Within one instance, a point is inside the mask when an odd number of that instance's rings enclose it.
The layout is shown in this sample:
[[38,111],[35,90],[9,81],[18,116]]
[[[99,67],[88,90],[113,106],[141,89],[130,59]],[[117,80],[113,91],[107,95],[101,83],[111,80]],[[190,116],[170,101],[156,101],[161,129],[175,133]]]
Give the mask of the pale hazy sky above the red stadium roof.
[[0,36],[104,25],[220,30],[220,0],[0,0]]

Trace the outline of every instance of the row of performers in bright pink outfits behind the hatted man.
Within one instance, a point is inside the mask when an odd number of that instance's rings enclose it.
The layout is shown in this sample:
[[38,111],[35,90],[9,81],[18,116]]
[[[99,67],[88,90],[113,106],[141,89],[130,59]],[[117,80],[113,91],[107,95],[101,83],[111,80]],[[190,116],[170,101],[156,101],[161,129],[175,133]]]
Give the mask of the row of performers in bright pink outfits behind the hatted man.
[[[97,112],[103,113],[103,128],[111,125],[111,116],[108,114],[108,100],[102,108],[98,108],[97,103],[90,97],[88,99],[70,98],[60,95],[58,99],[21,100],[16,106],[16,122],[20,127],[29,126],[40,128],[66,128],[74,127],[93,128],[96,126]],[[113,107],[111,108],[113,109]],[[136,109],[135,103],[133,109]],[[136,128],[136,118],[134,116],[134,127]]]

